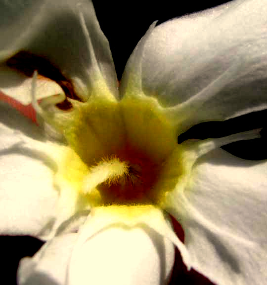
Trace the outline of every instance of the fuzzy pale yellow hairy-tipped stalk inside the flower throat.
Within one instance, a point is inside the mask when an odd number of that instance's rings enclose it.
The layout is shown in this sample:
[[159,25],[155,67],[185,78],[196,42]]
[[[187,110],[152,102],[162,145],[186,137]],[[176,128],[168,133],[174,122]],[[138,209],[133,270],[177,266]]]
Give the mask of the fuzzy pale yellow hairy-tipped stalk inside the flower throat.
[[89,175],[84,180],[83,192],[89,194],[97,185],[107,182],[108,185],[116,184],[120,178],[128,175],[129,165],[117,158],[103,160],[91,168]]

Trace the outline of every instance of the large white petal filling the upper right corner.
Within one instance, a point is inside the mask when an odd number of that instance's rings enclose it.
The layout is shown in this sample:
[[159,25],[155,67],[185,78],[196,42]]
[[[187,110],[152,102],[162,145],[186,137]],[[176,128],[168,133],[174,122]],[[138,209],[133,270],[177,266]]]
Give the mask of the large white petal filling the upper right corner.
[[266,14],[266,0],[236,0],[157,26],[139,51],[143,92],[180,131],[267,108]]

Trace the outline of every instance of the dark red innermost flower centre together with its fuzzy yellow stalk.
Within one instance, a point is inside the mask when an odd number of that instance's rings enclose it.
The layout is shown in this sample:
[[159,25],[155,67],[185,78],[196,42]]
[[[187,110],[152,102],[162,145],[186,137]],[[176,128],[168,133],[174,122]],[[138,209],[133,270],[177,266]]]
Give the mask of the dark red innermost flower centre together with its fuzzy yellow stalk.
[[104,204],[151,204],[158,200],[154,184],[160,165],[129,146],[90,170],[84,189],[88,193],[96,186]]

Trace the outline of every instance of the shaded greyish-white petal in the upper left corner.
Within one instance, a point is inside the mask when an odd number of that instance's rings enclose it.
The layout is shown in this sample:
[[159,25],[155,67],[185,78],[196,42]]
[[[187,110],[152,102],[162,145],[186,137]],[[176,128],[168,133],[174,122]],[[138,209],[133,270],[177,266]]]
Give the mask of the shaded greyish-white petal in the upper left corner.
[[43,56],[79,84],[75,87],[80,91],[84,88],[86,94],[82,97],[89,95],[92,74],[97,70],[116,94],[117,78],[109,43],[90,0],[2,1],[0,15],[0,61],[20,50]]

